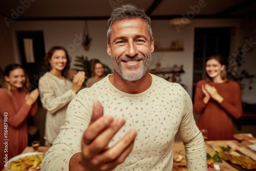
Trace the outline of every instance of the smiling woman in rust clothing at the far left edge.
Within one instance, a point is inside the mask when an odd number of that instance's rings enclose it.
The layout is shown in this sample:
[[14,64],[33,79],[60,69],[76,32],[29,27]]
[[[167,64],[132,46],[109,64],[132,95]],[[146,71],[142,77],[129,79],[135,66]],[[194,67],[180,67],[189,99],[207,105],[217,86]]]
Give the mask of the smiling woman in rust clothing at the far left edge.
[[19,155],[28,146],[26,119],[36,114],[38,96],[38,89],[29,93],[29,78],[22,66],[11,64],[5,68],[0,89],[0,169],[4,157]]

